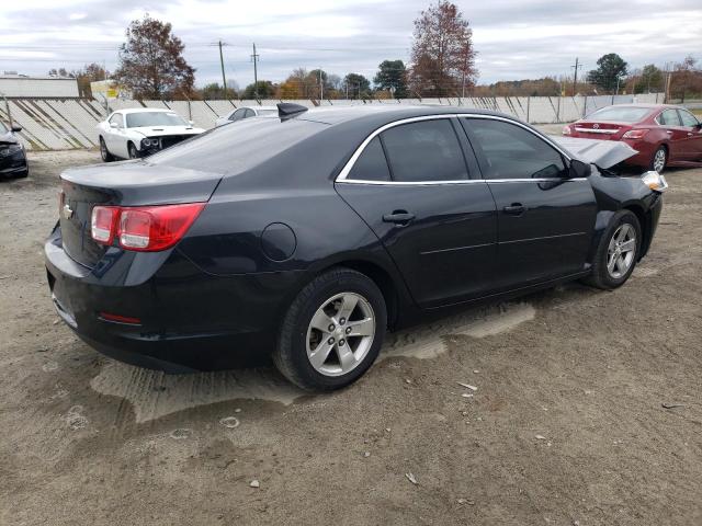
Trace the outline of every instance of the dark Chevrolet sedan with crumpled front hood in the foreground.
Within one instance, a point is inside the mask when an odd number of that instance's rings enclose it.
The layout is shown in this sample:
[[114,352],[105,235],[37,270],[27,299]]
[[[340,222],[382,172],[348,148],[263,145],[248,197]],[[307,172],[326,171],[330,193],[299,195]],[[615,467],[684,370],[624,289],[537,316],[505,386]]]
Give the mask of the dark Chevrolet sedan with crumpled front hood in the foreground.
[[656,172],[616,176],[505,115],[294,111],[64,172],[45,244],[64,321],[129,363],[267,352],[333,389],[386,328],[570,279],[619,287],[656,230]]

